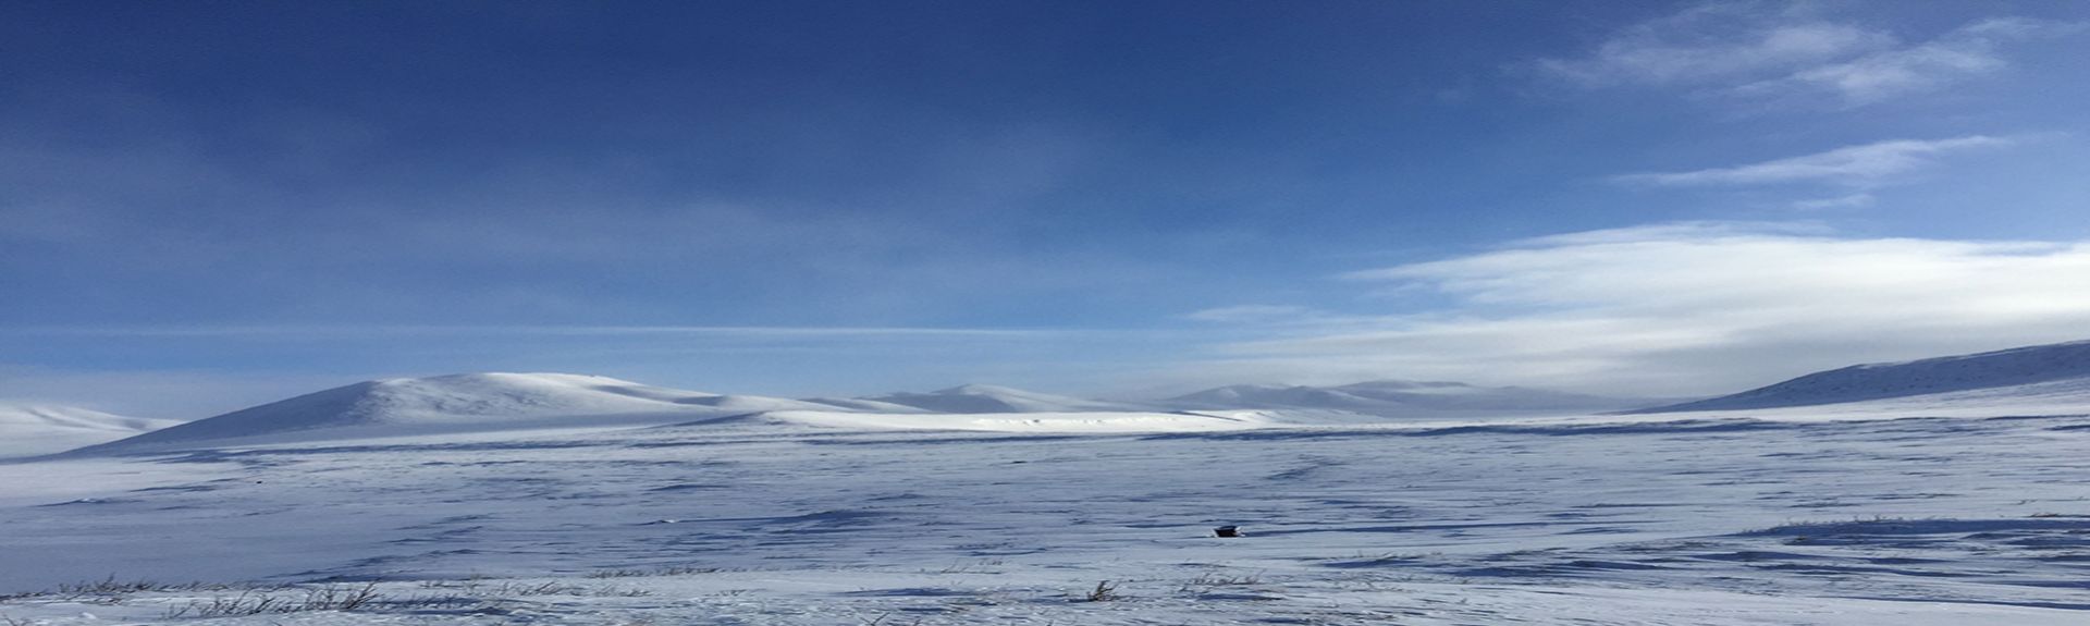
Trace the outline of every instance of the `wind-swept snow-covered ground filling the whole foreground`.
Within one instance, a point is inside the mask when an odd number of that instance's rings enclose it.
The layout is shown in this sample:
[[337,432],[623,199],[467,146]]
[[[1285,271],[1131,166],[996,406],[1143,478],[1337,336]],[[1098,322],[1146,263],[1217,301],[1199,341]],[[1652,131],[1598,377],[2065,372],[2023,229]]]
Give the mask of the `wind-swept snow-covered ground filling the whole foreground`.
[[[725,415],[702,398],[729,396],[608,379],[424,381],[364,389],[345,410],[385,410],[305,440],[190,429],[0,465],[0,595],[17,593],[0,618],[2090,622],[2082,383],[1331,425],[1271,410]],[[1233,523],[1246,536],[1212,536]],[[65,590],[111,576],[155,584]],[[351,611],[236,616],[364,582],[374,597]],[[1097,584],[1104,601],[1087,601]]]

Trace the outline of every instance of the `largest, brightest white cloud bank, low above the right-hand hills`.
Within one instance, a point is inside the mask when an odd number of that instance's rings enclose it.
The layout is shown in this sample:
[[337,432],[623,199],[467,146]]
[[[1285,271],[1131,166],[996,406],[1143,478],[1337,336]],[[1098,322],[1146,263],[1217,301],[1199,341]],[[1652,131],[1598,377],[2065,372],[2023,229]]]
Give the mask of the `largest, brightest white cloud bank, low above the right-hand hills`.
[[1239,379],[1463,379],[1726,394],[1862,360],[2090,337],[2090,243],[1854,239],[1659,224],[1348,278],[1455,299],[1369,327],[1281,327],[1200,364]]

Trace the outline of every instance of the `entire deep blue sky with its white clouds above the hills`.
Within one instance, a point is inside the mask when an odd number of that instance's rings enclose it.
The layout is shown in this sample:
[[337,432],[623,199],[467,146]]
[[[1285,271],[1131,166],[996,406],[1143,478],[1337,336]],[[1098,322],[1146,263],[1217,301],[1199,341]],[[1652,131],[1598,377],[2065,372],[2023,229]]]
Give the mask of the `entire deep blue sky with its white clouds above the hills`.
[[0,398],[1689,396],[2090,339],[2086,57],[2065,0],[8,2]]

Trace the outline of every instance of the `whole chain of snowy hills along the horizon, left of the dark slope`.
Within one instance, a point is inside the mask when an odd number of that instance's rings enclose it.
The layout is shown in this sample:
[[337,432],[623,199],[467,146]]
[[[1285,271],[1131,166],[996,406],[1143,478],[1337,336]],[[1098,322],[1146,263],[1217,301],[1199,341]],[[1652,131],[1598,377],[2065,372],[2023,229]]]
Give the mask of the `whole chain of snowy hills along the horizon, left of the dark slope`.
[[1563,415],[1630,404],[1526,387],[1417,381],[1233,385],[1162,402],[1106,402],[997,385],[788,400],[591,375],[474,373],[362,381],[123,440],[115,438],[125,433],[84,440],[86,448],[73,452],[138,454],[199,446],[617,427],[1233,429],[1269,423],[1371,423],[1384,417]]

